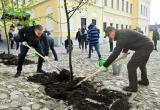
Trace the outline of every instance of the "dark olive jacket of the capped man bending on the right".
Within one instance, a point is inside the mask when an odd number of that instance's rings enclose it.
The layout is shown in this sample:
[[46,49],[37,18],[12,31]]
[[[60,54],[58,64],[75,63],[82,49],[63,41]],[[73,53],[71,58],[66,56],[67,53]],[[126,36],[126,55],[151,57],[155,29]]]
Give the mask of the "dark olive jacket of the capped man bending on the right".
[[105,67],[108,67],[122,50],[127,53],[128,50],[136,51],[143,46],[153,46],[149,38],[132,30],[117,30],[115,40],[117,41],[116,47],[104,64]]

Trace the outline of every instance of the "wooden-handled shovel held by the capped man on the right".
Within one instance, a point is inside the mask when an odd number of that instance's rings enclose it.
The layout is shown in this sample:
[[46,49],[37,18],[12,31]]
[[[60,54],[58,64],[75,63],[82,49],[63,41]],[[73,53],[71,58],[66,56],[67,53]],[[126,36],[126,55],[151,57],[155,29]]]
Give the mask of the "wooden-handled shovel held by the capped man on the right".
[[[128,55],[128,54],[130,54],[130,53],[127,53],[127,55]],[[124,56],[122,56],[122,57],[118,58],[117,60],[113,61],[110,65],[112,65],[112,64],[120,61],[121,59],[124,59]],[[110,66],[110,65],[109,65],[109,66]],[[89,75],[88,77],[86,77],[86,78],[84,78],[83,80],[81,80],[80,82],[78,82],[74,87],[79,86],[82,82],[88,80],[88,79],[91,78],[91,77],[95,77],[95,75],[97,75],[98,73],[99,73],[99,71],[96,71],[95,73]]]

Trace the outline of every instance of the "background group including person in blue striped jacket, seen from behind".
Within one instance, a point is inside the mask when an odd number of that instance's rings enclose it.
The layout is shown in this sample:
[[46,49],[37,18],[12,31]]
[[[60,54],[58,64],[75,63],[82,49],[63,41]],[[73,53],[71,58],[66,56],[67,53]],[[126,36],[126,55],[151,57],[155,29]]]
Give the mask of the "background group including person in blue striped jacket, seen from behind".
[[100,60],[102,59],[102,56],[100,53],[99,38],[100,38],[100,31],[93,23],[91,23],[88,26],[88,30],[84,25],[82,29],[78,29],[78,32],[76,34],[76,40],[78,39],[79,48],[80,49],[82,48],[82,52],[84,52],[84,48],[87,51],[87,46],[89,44],[88,58],[91,58],[91,53],[93,52],[93,47],[94,47],[98,54],[98,58]]

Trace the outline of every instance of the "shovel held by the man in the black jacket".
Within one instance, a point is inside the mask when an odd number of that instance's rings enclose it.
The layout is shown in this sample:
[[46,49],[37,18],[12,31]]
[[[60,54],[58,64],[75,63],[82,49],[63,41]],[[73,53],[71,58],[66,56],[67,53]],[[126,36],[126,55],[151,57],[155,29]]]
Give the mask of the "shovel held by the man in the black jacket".
[[[24,45],[24,44],[23,44]],[[42,56],[39,52],[37,52],[33,47],[29,46],[28,44],[25,44],[24,46],[27,46],[29,49],[33,50],[38,56],[40,56],[41,58],[43,58],[45,60],[45,57]],[[56,68],[58,71],[62,71],[63,69],[53,65],[53,63],[51,63],[49,60],[46,60],[50,65],[52,65],[52,67]]]

